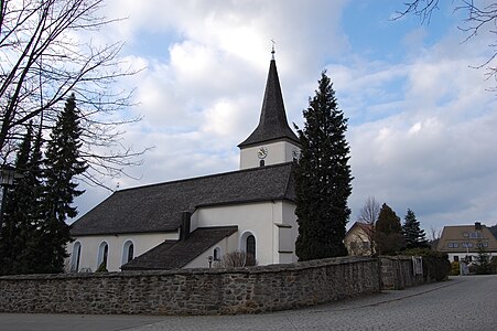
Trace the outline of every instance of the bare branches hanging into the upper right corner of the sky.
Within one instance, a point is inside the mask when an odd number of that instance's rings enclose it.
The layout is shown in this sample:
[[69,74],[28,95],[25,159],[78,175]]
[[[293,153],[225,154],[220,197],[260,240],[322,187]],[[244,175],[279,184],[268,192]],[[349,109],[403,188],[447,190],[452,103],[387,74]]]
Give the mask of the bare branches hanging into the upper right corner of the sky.
[[[398,12],[399,19],[407,14],[415,14],[420,18],[421,23],[430,23],[433,12],[439,9],[440,0],[413,0],[404,2],[404,10]],[[493,54],[484,63],[476,65],[476,68],[485,67],[488,79],[495,79],[497,84],[497,3],[483,6],[482,2],[476,4],[475,0],[453,0],[454,11],[467,12],[464,24],[460,26],[462,31],[467,32],[466,40],[477,35],[482,30],[487,30],[494,35],[494,42],[488,45]],[[497,90],[497,86],[493,88]]]

